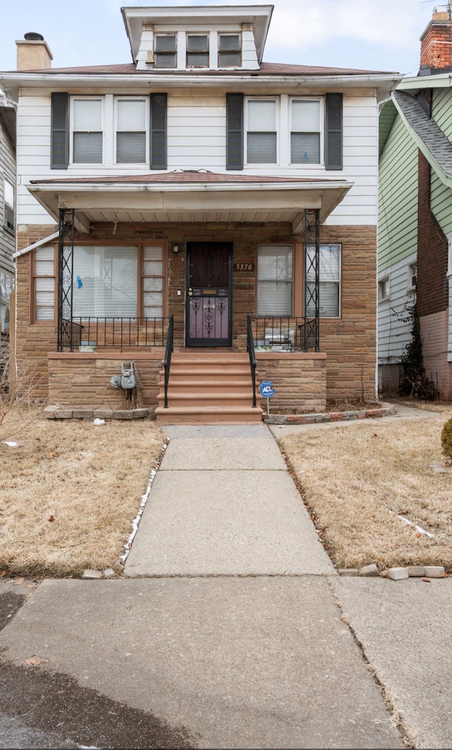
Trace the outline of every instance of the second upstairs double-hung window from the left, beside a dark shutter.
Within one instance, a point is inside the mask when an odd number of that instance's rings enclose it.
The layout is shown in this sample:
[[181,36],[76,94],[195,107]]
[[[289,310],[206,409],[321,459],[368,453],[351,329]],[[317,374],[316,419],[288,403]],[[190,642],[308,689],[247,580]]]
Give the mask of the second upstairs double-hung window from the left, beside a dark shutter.
[[144,164],[147,154],[147,100],[116,99],[116,163]]

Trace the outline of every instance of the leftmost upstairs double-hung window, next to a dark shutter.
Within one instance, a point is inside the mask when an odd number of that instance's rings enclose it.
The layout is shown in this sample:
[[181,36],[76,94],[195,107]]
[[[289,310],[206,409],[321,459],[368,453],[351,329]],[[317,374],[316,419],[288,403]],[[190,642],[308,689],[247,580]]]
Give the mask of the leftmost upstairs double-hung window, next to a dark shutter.
[[72,100],[72,161],[74,164],[103,163],[103,99]]

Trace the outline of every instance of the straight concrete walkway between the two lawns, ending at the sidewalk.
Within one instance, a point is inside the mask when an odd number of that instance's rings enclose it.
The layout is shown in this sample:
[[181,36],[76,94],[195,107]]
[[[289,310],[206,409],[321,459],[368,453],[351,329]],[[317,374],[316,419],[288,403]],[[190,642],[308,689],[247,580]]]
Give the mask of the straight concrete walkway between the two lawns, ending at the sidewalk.
[[334,574],[265,425],[165,431],[126,575]]

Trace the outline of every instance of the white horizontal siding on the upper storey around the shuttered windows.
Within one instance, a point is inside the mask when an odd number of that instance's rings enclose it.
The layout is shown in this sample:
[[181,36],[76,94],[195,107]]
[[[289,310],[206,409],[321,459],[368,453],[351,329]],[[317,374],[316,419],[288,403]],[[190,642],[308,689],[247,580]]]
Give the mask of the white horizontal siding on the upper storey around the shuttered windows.
[[[18,107],[17,164],[18,224],[49,224],[54,220],[26,188],[34,179],[109,177],[149,172],[148,166],[111,167],[73,165],[50,169],[50,91],[34,95],[22,91]],[[124,89],[118,90],[118,95]],[[275,91],[277,94],[277,83]],[[269,94],[270,95],[270,94]],[[297,92],[298,96],[298,92]],[[311,94],[312,96],[312,94]],[[289,101],[289,95],[281,97]],[[280,154],[289,154],[289,125],[280,122]],[[226,90],[207,92],[201,88],[175,89],[168,93],[168,170],[208,169],[226,172]],[[377,104],[376,92],[358,90],[343,99],[343,169],[285,163],[244,165],[244,174],[347,180],[353,183],[343,202],[327,223],[331,225],[376,225],[377,220]],[[152,172],[151,172],[152,174]]]

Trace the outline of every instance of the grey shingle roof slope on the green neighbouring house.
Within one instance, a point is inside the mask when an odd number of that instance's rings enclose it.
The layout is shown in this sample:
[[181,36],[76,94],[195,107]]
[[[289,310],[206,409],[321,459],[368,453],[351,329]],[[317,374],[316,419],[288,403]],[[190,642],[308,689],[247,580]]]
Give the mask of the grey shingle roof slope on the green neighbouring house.
[[421,150],[427,150],[430,157],[436,161],[445,175],[452,178],[451,141],[445,136],[439,125],[427,116],[415,96],[406,92],[395,91],[394,99],[407,124],[421,140],[424,146],[424,148],[421,147]]

